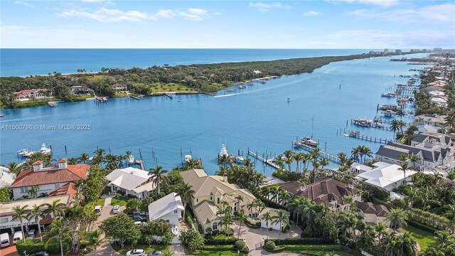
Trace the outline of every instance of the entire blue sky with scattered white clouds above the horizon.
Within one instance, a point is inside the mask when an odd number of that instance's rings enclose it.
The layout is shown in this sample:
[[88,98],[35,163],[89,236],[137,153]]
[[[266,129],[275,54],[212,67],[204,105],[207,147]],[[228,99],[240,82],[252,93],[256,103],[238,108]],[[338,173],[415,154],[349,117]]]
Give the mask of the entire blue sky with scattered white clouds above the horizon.
[[454,1],[1,1],[1,48],[455,48]]

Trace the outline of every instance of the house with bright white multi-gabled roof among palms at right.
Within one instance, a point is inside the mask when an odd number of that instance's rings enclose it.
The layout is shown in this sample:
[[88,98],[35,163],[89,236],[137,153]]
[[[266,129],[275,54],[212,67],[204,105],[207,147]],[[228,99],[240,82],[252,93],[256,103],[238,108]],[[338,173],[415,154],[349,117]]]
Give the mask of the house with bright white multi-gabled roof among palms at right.
[[392,191],[393,188],[402,185],[405,181],[411,181],[412,176],[416,174],[412,170],[407,170],[405,174],[404,171],[400,170],[401,166],[381,161],[376,162],[373,166],[375,168],[358,174],[357,178],[387,191]]

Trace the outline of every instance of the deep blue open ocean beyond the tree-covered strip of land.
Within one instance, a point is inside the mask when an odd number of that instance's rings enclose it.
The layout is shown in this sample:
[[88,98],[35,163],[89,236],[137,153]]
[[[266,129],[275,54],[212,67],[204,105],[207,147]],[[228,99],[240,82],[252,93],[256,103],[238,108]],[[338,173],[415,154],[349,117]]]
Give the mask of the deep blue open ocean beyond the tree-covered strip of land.
[[368,53],[365,49],[1,49],[0,76],[68,74],[77,69],[277,60]]

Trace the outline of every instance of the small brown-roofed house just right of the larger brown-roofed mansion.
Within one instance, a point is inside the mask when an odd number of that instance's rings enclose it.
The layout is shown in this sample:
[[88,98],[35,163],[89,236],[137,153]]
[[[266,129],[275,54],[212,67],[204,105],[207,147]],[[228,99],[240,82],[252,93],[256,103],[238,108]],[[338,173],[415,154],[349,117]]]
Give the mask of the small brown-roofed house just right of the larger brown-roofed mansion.
[[378,223],[382,223],[385,226],[389,226],[390,222],[385,220],[387,218],[387,214],[389,213],[389,209],[387,206],[378,205],[371,202],[355,202],[355,206],[358,209],[358,213],[360,217],[365,220],[365,223],[369,225],[376,225]]

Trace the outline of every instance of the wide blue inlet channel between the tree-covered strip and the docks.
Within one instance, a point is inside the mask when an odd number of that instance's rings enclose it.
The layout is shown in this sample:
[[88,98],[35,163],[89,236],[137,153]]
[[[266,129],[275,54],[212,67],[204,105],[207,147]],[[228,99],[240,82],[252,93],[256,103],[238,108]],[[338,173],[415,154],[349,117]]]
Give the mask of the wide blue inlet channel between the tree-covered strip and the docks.
[[[16,151],[39,149],[50,143],[54,158],[92,154],[97,146],[112,154],[132,151],[139,156],[141,149],[146,168],[159,164],[166,169],[181,164],[183,156],[201,158],[205,171],[217,169],[220,140],[228,151],[246,153],[250,148],[259,154],[279,154],[291,148],[296,136],[313,135],[321,148],[337,154],[365,144],[375,152],[380,144],[337,135],[339,129],[356,129],[362,134],[392,139],[392,132],[360,127],[346,127],[355,117],[373,119],[378,103],[394,103],[395,99],[380,97],[381,92],[412,75],[402,62],[390,58],[371,58],[331,63],[314,73],[285,76],[267,84],[247,86],[234,94],[225,90],[215,97],[208,95],[178,95],[147,97],[142,100],[119,98],[106,105],[86,102],[60,103],[58,107],[33,107],[2,110],[1,125],[84,125],[90,131],[1,131],[1,164],[18,161]],[[417,66],[421,68],[421,66]],[[341,85],[341,89],[339,87]],[[287,98],[290,98],[287,102]],[[181,100],[181,102],[178,102]],[[406,121],[410,119],[403,118]],[[64,146],[68,147],[68,155]],[[152,150],[155,158],[152,156]],[[156,163],[156,161],[157,163]],[[257,164],[258,171],[269,176],[271,169]]]

